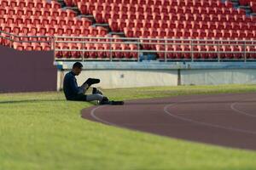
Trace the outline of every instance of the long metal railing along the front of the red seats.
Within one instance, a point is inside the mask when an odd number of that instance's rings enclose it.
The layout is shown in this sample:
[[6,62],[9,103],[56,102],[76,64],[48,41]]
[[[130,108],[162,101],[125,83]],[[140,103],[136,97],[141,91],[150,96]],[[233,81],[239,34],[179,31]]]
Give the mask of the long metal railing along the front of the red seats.
[[9,47],[15,42],[48,43],[55,60],[139,61],[145,56],[161,61],[256,60],[256,40],[17,36],[4,31],[0,38],[9,41],[5,44]]

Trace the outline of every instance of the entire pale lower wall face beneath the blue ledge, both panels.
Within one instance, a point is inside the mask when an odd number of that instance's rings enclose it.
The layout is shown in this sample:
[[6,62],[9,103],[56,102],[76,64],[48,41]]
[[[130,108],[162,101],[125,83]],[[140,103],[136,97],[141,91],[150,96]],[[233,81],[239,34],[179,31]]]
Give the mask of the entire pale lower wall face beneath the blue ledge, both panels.
[[[58,89],[62,88],[68,71],[58,72]],[[101,79],[102,82],[96,85],[99,88],[256,84],[255,69],[84,70],[77,77],[79,85],[89,77]]]

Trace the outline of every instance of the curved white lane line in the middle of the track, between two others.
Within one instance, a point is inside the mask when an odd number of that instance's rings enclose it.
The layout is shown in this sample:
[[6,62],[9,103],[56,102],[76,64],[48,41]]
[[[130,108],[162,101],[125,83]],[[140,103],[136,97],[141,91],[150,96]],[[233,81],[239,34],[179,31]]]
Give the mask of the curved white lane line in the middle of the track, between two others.
[[[207,98],[207,99],[208,99],[208,98]],[[207,127],[221,128],[221,129],[230,130],[230,131],[233,131],[233,132],[249,133],[249,134],[253,134],[253,135],[256,134],[256,132],[247,131],[247,130],[240,129],[240,128],[224,127],[224,126],[221,126],[221,125],[216,125],[216,124],[207,123],[207,122],[198,122],[198,121],[195,121],[195,120],[192,120],[192,119],[189,119],[189,118],[185,118],[185,117],[183,117],[183,116],[174,115],[174,114],[172,114],[170,111],[168,111],[168,108],[173,107],[173,106],[175,106],[175,105],[177,105],[177,104],[179,104],[179,103],[187,102],[187,101],[195,101],[195,100],[185,100],[185,101],[182,101],[182,102],[177,102],[177,103],[174,103],[174,104],[166,105],[166,106],[164,107],[164,111],[166,112],[167,115],[172,116],[172,117],[174,117],[174,118],[177,118],[177,119],[179,119],[179,120],[182,120],[182,121],[184,121],[184,122],[191,122],[191,123],[200,124],[200,125],[207,126]]]

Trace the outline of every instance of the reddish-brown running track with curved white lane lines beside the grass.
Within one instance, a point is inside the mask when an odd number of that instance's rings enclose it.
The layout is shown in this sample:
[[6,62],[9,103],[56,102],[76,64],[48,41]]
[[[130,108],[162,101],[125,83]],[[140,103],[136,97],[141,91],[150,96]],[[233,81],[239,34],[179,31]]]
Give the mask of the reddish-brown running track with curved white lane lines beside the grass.
[[256,150],[256,94],[140,99],[84,109],[82,117],[176,139]]

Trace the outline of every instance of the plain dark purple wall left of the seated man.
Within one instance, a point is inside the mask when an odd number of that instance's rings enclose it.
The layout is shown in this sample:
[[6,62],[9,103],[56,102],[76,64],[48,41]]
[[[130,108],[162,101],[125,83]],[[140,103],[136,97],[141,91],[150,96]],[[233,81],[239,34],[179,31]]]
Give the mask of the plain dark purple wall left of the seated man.
[[16,51],[0,46],[0,93],[55,91],[52,51]]

